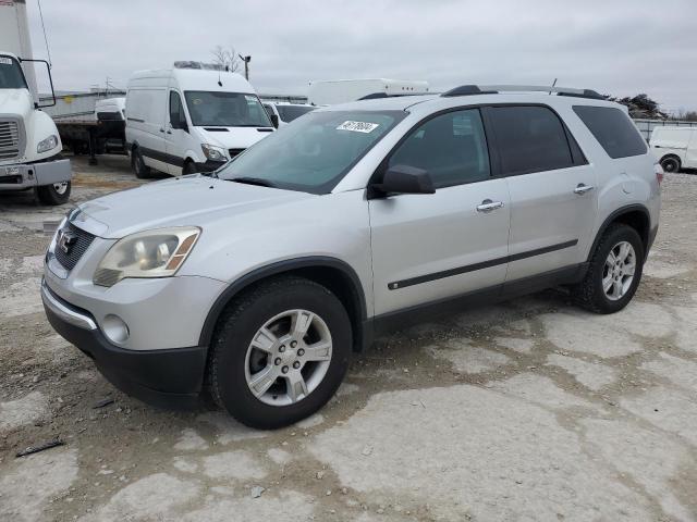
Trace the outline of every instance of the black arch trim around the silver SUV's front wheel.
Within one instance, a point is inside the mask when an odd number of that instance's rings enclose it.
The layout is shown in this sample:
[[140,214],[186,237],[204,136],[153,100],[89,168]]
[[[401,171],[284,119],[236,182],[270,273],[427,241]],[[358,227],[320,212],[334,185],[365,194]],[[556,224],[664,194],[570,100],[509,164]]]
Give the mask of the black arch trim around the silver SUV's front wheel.
[[358,331],[354,331],[354,346],[363,346],[364,339],[366,335],[369,335],[366,332],[366,324],[368,323],[367,316],[368,311],[366,308],[366,296],[363,290],[363,285],[360,283],[360,278],[356,271],[346,263],[337,258],[325,257],[325,256],[308,256],[303,258],[289,259],[284,261],[278,261],[265,266],[260,266],[258,269],[253,270],[252,272],[247,272],[243,276],[239,277],[234,282],[232,282],[216,299],[213,306],[208,311],[208,315],[206,316],[206,321],[204,322],[204,326],[199,336],[199,346],[210,346],[212,340],[213,331],[216,328],[216,324],[218,323],[218,319],[220,314],[224,310],[224,308],[230,303],[232,299],[245,288],[248,288],[254,283],[262,281],[267,277],[271,277],[274,275],[280,275],[286,272],[292,272],[298,269],[334,269],[341,271],[351,282],[351,293],[354,299],[354,306],[357,306],[357,310],[359,316],[357,318],[356,324],[354,325]]

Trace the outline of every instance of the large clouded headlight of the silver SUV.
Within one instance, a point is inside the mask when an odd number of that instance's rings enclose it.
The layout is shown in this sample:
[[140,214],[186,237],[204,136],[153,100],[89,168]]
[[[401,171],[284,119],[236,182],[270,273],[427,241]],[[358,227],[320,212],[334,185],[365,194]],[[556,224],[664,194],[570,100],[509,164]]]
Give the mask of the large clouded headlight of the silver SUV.
[[200,228],[176,226],[139,232],[119,239],[103,257],[95,285],[113,286],[125,277],[169,277],[189,254]]

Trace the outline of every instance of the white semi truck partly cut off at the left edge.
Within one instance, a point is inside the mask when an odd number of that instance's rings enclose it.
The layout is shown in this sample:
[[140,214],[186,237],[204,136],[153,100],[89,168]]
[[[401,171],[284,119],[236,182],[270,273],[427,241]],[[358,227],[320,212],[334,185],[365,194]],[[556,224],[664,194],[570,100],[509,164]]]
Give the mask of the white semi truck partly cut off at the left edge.
[[0,191],[35,189],[46,204],[65,203],[70,161],[53,120],[41,111],[24,0],[0,2]]

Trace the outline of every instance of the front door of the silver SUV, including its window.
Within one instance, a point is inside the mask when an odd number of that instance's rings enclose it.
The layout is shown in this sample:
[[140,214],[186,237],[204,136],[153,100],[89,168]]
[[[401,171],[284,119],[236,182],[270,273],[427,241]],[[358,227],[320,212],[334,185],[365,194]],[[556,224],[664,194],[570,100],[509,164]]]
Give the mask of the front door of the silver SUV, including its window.
[[479,110],[415,126],[386,169],[400,164],[428,171],[436,194],[369,200],[376,314],[500,287],[510,199],[491,176]]

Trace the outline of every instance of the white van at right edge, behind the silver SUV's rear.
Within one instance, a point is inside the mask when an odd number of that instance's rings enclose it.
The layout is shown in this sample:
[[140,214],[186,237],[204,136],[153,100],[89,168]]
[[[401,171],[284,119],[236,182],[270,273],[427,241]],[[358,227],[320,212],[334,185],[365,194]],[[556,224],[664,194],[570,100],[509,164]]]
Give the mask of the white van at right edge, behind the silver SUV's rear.
[[649,145],[663,171],[697,169],[697,127],[656,127]]

